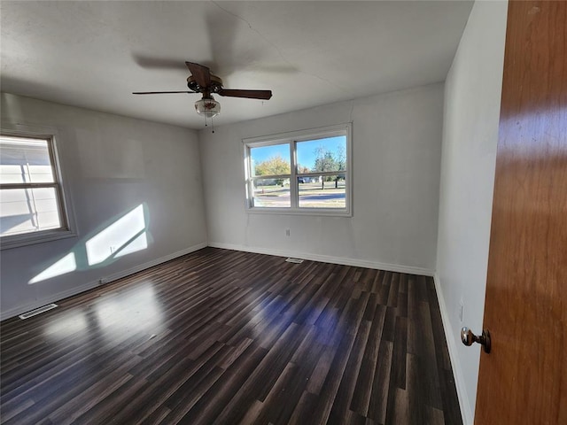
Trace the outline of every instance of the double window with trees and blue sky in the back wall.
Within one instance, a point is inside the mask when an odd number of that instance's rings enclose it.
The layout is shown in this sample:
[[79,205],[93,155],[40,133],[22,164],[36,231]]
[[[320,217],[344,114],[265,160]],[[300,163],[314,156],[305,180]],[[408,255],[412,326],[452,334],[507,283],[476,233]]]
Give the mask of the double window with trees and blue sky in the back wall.
[[351,215],[351,125],[245,139],[253,213]]

